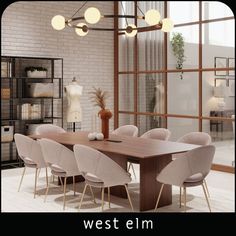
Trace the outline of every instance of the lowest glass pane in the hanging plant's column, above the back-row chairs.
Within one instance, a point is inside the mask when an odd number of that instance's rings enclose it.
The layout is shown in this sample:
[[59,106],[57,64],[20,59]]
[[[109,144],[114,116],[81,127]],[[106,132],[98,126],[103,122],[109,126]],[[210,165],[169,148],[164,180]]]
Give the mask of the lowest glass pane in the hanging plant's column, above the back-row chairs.
[[198,119],[167,118],[167,127],[171,132],[170,140],[176,141],[189,132],[198,131]]

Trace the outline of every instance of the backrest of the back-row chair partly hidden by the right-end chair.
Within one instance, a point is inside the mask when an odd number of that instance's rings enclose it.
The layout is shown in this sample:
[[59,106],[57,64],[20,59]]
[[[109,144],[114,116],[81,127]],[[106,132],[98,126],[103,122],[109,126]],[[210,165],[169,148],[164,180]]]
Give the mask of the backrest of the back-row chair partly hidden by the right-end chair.
[[211,144],[211,136],[205,132],[191,132],[179,138],[177,142],[196,145],[209,145]]

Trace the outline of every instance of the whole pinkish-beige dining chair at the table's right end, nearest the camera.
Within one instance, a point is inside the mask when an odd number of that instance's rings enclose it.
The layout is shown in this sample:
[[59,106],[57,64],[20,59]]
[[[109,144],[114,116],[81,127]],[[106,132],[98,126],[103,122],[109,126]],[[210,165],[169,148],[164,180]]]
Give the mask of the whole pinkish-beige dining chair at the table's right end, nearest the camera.
[[176,158],[170,162],[157,175],[156,180],[161,183],[160,192],[157,198],[155,211],[165,184],[175,185],[184,188],[184,211],[186,212],[186,188],[201,185],[207,201],[209,211],[211,212],[210,203],[207,197],[206,189],[203,181],[209,174],[213,157],[215,154],[215,147],[213,145],[206,145],[195,148],[186,152],[182,158]]

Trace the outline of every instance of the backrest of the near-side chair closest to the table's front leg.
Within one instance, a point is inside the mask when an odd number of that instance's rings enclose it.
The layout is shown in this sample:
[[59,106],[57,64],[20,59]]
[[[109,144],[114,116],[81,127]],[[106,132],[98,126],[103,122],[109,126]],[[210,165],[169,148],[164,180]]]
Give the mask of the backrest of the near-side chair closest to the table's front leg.
[[92,174],[104,182],[105,186],[129,183],[129,174],[105,154],[88,146],[74,145],[75,159],[80,172]]

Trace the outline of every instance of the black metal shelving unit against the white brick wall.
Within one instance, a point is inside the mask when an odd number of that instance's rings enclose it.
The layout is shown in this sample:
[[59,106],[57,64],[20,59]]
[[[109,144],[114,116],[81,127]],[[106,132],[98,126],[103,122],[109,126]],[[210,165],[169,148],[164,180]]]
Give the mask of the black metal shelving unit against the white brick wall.
[[[41,66],[47,68],[46,78],[29,78],[25,67]],[[53,83],[56,85],[57,96],[29,97],[26,91],[28,83]],[[3,97],[2,89],[10,89],[8,97]],[[40,104],[42,109],[49,108],[47,115],[40,119],[22,119],[21,105]],[[54,109],[54,105],[57,109]],[[17,111],[17,105],[19,107]],[[1,57],[1,129],[13,126],[14,133],[27,135],[26,126],[30,124],[55,123],[63,127],[63,58],[46,57]],[[14,139],[3,142],[1,132],[1,168],[13,168],[23,165],[17,155]]]

